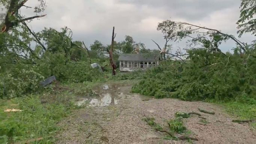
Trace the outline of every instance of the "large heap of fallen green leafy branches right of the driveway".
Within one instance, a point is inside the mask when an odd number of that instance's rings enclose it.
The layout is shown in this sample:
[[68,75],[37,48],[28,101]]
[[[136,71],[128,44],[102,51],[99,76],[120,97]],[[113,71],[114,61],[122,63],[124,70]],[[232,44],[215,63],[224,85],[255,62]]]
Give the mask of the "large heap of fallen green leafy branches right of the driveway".
[[166,61],[143,74],[133,92],[155,98],[187,101],[250,101],[255,99],[256,60],[246,54],[188,51],[186,63]]

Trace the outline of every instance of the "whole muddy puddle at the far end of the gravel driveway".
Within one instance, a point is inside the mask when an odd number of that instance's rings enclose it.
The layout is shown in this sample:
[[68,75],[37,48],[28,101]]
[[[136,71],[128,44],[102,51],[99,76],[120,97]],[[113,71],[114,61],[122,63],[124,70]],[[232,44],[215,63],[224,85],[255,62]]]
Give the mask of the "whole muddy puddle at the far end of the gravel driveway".
[[118,99],[123,93],[116,84],[104,84],[93,89],[97,96],[79,98],[76,104],[78,106],[88,105],[89,107],[104,107],[108,105],[116,105]]

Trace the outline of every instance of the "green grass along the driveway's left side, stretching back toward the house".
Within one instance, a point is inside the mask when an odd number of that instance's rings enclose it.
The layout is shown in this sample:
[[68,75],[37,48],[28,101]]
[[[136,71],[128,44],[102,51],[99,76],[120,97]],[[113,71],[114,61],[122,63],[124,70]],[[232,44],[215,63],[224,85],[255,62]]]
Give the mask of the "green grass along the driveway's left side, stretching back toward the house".
[[[80,95],[91,95],[92,87],[103,83],[134,84],[136,80],[114,80],[110,78],[86,83],[56,83],[53,90],[40,95],[28,95],[11,100],[0,99],[0,143],[23,142],[43,138],[34,143],[54,143],[54,136],[62,129],[57,123],[78,107],[74,99]],[[41,103],[41,100],[46,100]],[[21,112],[3,112],[8,108]],[[33,143],[33,142],[32,142]]]

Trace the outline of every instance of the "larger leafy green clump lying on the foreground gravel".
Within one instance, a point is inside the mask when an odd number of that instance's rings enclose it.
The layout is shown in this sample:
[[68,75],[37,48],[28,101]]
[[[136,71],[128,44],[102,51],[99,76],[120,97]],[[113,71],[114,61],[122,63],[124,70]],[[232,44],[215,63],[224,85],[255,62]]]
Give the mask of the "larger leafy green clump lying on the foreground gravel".
[[182,118],[177,117],[175,120],[170,120],[168,122],[169,129],[172,132],[184,133],[187,128],[183,125]]

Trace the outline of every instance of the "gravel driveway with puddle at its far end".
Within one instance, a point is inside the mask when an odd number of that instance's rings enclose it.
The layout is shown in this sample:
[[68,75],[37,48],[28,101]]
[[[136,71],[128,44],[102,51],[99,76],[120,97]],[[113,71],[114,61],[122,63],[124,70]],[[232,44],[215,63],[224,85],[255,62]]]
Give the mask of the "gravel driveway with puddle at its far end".
[[214,111],[202,114],[208,124],[199,123],[197,115],[184,119],[190,136],[199,144],[255,144],[256,132],[248,124],[233,123],[224,110],[205,102],[185,102],[178,99],[149,99],[130,93],[129,84],[104,84],[95,87],[95,98],[81,98],[77,104],[87,107],[77,110],[60,123],[63,132],[57,136],[59,144],[182,144],[188,141],[161,139],[164,133],[155,131],[144,115],[154,117],[165,126],[176,112],[199,112],[198,108]]

